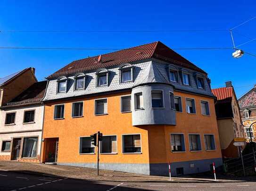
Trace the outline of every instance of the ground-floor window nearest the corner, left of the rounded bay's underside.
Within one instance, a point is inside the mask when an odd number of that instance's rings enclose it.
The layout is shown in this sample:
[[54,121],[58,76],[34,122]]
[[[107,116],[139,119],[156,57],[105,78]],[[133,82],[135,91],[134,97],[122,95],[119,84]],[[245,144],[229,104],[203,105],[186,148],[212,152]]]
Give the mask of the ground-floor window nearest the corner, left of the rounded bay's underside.
[[123,153],[141,153],[140,134],[123,135]]

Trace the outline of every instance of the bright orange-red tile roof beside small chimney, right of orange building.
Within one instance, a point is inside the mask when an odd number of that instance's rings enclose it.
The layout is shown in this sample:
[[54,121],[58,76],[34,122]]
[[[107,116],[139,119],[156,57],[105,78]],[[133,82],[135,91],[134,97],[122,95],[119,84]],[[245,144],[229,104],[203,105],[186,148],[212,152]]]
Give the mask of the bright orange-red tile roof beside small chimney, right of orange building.
[[233,94],[233,87],[223,87],[212,89],[212,93],[217,97],[217,101],[231,101]]

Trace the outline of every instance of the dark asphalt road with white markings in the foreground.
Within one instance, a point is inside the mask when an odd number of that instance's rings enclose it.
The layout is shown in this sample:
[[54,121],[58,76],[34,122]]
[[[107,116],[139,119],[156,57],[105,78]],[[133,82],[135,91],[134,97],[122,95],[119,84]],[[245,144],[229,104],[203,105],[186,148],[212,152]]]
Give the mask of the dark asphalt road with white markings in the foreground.
[[0,171],[0,191],[256,191],[256,182],[125,183]]

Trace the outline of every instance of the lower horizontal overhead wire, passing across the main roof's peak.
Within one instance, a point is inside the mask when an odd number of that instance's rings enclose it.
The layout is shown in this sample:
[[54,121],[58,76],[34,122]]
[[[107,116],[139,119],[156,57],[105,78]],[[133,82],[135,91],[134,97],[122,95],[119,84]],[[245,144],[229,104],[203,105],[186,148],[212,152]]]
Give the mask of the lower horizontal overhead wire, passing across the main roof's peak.
[[[30,49],[30,50],[123,50],[125,48],[79,48],[79,47],[25,47],[25,46],[0,46],[0,49]],[[154,48],[134,48],[135,50],[155,50]],[[172,50],[225,50],[232,47],[188,47],[171,48]],[[169,50],[168,48],[158,48],[157,50]]]

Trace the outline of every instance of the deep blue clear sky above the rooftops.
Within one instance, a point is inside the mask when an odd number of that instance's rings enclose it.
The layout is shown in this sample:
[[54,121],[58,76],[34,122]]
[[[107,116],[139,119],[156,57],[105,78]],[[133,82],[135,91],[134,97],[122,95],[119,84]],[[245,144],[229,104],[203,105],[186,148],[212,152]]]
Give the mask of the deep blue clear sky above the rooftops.
[[[229,30],[256,16],[254,0],[1,0],[0,46],[126,48],[161,41],[171,48],[231,47],[228,31],[25,33],[13,31]],[[256,38],[256,19],[235,29],[237,45]],[[243,34],[244,36],[240,35]],[[256,54],[256,41],[240,48]],[[0,49],[0,77],[26,67],[39,80],[71,61],[107,50]],[[238,97],[256,84],[256,57],[232,58],[233,50],[177,50],[204,69],[212,88],[231,80]]]

